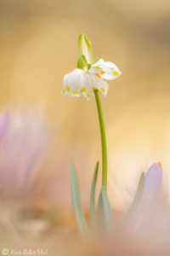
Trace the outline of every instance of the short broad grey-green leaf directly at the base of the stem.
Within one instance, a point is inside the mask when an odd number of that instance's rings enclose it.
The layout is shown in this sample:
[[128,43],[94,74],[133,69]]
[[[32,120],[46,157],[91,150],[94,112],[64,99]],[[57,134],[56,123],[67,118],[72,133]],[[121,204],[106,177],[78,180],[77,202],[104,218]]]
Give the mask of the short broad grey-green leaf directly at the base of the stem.
[[111,205],[103,187],[100,189],[99,193],[98,224],[99,229],[102,230],[111,230],[113,224]]

